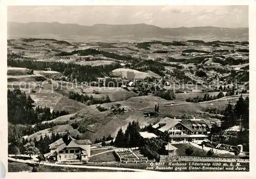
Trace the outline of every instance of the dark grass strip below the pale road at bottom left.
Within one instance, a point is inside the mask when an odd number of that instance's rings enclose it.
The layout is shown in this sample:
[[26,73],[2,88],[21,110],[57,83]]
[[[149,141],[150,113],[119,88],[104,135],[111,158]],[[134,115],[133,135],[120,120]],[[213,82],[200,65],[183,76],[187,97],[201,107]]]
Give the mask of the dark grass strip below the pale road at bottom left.
[[[71,168],[71,167],[56,167],[48,165],[36,166],[38,172],[120,172],[120,170],[105,170],[105,169],[93,169],[93,168]],[[19,163],[8,161],[8,172],[31,172],[33,169],[32,164]]]

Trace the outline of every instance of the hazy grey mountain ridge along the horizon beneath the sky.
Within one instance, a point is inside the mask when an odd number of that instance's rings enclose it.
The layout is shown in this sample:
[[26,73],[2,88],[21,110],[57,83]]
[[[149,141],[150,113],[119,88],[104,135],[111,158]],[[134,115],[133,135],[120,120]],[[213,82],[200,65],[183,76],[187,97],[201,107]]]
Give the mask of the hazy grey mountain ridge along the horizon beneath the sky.
[[145,23],[139,24],[94,24],[92,26],[74,23],[64,24],[59,22],[8,22],[8,37],[28,37],[59,35],[70,38],[72,36],[95,36],[95,38],[113,38],[130,36],[132,39],[141,38],[166,38],[180,40],[226,40],[248,41],[249,28],[217,28],[217,27],[193,27],[193,28],[160,28]]

